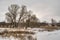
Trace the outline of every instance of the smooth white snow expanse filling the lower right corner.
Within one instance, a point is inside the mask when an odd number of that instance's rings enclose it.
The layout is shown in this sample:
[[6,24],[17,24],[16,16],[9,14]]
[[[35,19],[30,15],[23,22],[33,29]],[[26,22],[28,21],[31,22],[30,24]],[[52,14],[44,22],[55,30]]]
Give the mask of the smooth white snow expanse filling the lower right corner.
[[37,40],[60,40],[60,30],[52,32],[38,32],[36,33]]

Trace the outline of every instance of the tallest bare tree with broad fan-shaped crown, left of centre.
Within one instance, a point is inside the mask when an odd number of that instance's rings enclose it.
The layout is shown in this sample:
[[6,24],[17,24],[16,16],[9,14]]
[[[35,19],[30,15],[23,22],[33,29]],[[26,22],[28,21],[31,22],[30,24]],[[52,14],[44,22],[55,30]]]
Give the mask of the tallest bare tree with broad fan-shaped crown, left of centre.
[[8,10],[13,18],[13,22],[16,22],[18,9],[19,9],[19,6],[16,4],[12,4],[10,7],[8,7]]

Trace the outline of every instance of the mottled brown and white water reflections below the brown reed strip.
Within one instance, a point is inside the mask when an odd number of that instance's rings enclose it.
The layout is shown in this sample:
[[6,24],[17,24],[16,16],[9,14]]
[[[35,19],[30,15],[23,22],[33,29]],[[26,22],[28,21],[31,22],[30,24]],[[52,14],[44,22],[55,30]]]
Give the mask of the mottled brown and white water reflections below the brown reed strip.
[[7,35],[1,35],[0,40],[36,40],[35,38],[32,37],[32,35],[29,34],[22,34],[18,36],[7,36]]

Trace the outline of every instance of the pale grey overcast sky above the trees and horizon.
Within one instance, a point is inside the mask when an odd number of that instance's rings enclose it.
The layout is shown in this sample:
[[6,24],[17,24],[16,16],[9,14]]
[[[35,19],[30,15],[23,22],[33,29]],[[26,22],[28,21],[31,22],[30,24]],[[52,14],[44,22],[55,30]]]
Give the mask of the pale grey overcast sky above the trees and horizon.
[[51,22],[52,18],[60,20],[60,0],[0,0],[0,22],[5,21],[5,13],[11,4],[26,5],[41,22]]

